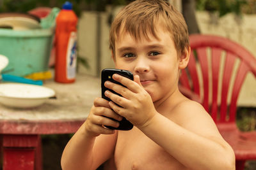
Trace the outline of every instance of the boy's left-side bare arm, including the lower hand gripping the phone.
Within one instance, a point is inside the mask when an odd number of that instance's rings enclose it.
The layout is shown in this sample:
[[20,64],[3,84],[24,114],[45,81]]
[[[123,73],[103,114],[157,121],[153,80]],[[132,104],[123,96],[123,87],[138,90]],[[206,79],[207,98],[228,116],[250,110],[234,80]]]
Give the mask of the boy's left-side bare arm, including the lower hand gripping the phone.
[[86,122],[70,139],[61,157],[63,170],[96,169],[114,153],[117,132],[102,125],[118,127],[121,120],[109,107],[108,101],[95,99]]

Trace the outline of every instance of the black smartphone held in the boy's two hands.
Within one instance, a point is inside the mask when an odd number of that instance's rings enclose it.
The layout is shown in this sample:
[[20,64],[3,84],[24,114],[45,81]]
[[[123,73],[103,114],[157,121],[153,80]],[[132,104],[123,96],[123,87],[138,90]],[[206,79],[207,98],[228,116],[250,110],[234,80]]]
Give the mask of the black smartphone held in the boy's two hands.
[[[118,93],[114,92],[113,90],[108,89],[104,86],[105,81],[111,81],[118,85],[122,85],[118,81],[113,80],[113,78],[112,78],[113,74],[120,74],[121,76],[124,76],[126,78],[133,80],[133,74],[131,73],[131,71],[127,71],[124,69],[103,69],[101,72],[101,96],[103,99],[106,99],[108,101],[111,101],[111,100],[105,96],[104,93],[106,90],[109,90],[110,92],[113,92],[114,94],[121,96],[120,94],[118,94]],[[124,85],[122,85],[122,86],[124,86]],[[110,119],[115,120],[113,118],[110,118]],[[115,121],[117,121],[117,120],[115,120]],[[122,130],[122,131],[129,131],[133,127],[131,122],[129,122],[126,118],[123,118],[121,121],[118,121],[118,122],[119,122],[119,127],[117,127],[117,128],[111,127],[111,126],[105,126],[105,127],[108,127],[109,129],[116,129],[116,130]]]

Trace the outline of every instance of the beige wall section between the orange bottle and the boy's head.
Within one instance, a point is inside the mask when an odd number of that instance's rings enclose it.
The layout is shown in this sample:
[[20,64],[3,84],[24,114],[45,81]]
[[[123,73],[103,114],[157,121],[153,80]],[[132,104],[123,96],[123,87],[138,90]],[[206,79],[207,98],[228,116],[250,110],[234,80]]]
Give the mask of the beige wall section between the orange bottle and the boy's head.
[[[114,67],[111,52],[108,48],[109,26],[107,21],[108,13],[84,11],[81,14],[77,31],[78,55],[86,59],[90,67],[86,68],[79,64],[79,73],[99,76],[99,70]],[[98,24],[101,25],[100,29],[97,28]]]

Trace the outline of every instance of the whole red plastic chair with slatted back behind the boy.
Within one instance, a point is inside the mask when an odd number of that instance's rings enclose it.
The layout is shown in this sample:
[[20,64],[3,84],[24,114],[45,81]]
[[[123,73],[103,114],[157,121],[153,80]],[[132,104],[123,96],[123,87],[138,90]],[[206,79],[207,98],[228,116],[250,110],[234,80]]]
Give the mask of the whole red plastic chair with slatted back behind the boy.
[[236,169],[244,169],[246,160],[256,160],[256,131],[237,129],[237,97],[246,74],[252,72],[256,77],[256,59],[241,45],[220,36],[194,34],[189,39],[191,55],[188,67],[182,70],[180,86],[200,97],[234,149]]

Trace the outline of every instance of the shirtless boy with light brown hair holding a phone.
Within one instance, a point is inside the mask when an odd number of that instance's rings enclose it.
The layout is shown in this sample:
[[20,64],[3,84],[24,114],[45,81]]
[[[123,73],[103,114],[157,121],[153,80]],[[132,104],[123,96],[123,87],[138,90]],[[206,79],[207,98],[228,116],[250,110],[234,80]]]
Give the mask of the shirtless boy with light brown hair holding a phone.
[[[61,166],[66,169],[235,169],[234,152],[221,138],[204,108],[178,89],[180,69],[189,60],[188,30],[182,15],[165,1],[138,0],[116,16],[110,48],[125,87],[105,86],[113,102],[95,99],[86,122],[68,142]],[[116,104],[122,106],[118,106]],[[131,131],[114,131],[122,117]]]

